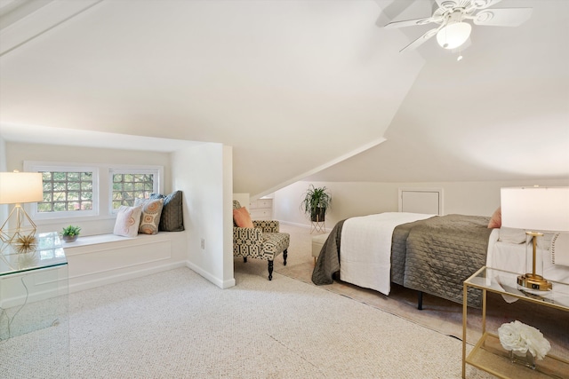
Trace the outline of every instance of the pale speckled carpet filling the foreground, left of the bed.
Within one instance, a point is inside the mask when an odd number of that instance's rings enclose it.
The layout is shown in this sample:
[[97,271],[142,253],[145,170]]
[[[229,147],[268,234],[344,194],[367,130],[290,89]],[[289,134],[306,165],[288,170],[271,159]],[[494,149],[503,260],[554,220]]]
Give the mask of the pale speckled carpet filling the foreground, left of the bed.
[[[58,327],[0,343],[4,378],[460,378],[461,342],[236,260],[236,287],[179,268],[69,296]],[[489,375],[469,367],[469,378]],[[68,375],[68,376],[67,376]]]

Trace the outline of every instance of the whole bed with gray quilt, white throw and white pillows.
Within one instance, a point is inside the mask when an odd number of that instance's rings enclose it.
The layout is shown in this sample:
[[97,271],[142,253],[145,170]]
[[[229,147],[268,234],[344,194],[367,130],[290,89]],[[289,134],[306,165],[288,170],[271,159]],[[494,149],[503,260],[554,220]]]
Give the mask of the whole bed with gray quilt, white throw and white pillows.
[[[420,309],[423,292],[461,304],[463,281],[480,267],[525,272],[531,244],[525,231],[489,228],[490,218],[387,212],[342,220],[320,251],[312,281],[331,284],[337,275],[384,295],[393,282],[419,291]],[[569,282],[568,233],[545,233],[538,254],[546,279]],[[481,292],[469,290],[469,305],[479,307]]]

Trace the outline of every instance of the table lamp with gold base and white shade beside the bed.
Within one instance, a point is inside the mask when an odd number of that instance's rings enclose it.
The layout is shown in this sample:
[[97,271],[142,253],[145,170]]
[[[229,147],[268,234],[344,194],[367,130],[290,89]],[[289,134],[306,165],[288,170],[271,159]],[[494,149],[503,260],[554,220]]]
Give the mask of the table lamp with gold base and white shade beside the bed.
[[501,225],[525,229],[532,239],[532,253],[525,254],[525,274],[517,284],[541,291],[551,289],[543,278],[543,259],[536,257],[537,239],[543,231],[569,231],[569,187],[501,188]]

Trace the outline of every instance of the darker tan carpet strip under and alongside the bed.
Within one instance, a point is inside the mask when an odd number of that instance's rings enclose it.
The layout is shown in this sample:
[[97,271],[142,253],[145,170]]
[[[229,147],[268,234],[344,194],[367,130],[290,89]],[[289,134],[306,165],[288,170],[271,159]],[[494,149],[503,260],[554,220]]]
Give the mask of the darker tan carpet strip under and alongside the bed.
[[[291,247],[287,265],[283,266],[282,260],[277,261],[275,263],[276,272],[313,285],[311,275],[314,259],[311,256],[311,239],[317,233],[310,234],[308,228],[284,224],[281,225],[281,230],[291,234]],[[348,296],[447,336],[462,339],[461,304],[437,296],[424,295],[423,310],[419,311],[416,292],[397,285],[391,288],[389,296],[341,281],[317,287]],[[541,330],[552,344],[551,353],[569,360],[569,313],[521,301],[508,304],[501,296],[493,293],[488,294],[487,308],[486,328],[488,330],[497,333],[496,330],[501,324],[520,320]],[[480,309],[469,308],[467,335],[469,343],[476,343],[481,336],[481,313]]]

